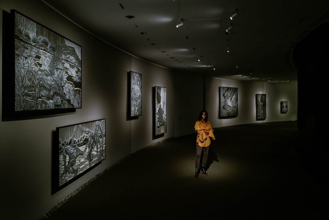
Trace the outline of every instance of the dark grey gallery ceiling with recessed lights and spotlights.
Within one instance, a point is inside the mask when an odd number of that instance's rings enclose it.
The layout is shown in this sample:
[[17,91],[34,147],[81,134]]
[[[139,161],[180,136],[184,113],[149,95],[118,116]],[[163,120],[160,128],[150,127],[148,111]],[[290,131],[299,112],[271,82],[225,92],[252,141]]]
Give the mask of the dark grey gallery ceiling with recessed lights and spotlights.
[[[268,82],[270,77],[271,83],[297,83],[293,48],[329,21],[329,0],[43,1],[109,44],[154,64],[223,79]],[[183,26],[176,28],[180,18]]]

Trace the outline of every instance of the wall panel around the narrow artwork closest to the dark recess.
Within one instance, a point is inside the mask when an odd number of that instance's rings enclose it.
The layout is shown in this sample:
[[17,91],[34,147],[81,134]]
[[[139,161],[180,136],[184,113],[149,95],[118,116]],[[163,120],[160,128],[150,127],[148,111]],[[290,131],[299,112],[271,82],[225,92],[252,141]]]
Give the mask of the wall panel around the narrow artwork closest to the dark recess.
[[[142,115],[131,120],[131,150],[135,151],[174,136],[174,80],[172,71],[132,57],[132,71],[142,74]],[[152,89],[154,86],[167,88],[167,132],[152,137]]]

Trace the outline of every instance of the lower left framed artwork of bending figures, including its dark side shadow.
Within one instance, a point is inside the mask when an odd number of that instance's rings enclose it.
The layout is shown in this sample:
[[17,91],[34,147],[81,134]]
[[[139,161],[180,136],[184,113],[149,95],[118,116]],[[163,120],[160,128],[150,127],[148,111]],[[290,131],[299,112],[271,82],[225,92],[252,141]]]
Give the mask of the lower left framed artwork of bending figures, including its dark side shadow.
[[57,127],[52,139],[54,194],[105,160],[106,119]]

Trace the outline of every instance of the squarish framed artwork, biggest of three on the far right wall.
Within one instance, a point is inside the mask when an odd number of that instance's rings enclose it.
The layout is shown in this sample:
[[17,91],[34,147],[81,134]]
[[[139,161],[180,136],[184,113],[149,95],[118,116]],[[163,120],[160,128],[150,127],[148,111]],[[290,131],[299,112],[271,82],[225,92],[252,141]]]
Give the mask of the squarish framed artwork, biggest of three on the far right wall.
[[220,117],[238,115],[238,88],[219,87]]

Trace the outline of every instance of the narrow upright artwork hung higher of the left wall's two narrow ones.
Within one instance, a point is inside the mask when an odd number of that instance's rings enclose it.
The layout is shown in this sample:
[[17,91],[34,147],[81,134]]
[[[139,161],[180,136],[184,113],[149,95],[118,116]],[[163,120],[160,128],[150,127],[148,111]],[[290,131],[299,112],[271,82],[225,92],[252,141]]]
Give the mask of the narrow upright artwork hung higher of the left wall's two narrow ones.
[[130,71],[130,116],[142,115],[142,75]]

